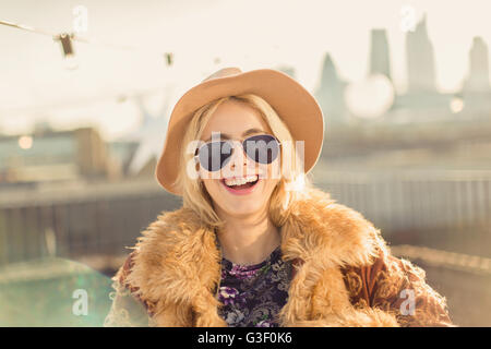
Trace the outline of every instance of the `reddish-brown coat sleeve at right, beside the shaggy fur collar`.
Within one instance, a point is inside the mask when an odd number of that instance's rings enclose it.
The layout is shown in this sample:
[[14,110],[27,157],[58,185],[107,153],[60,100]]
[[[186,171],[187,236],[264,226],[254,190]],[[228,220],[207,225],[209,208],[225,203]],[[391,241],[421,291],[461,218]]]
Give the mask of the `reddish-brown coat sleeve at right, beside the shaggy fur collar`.
[[400,326],[454,326],[446,299],[409,261],[381,253],[370,266],[346,269],[345,282],[356,308],[393,314]]

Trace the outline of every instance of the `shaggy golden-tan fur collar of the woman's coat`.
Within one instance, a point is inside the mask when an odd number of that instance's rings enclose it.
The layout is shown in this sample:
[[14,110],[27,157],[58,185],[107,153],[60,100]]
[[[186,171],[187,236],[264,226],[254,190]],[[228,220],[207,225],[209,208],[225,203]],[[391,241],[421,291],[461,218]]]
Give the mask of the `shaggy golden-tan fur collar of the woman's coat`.
[[[371,263],[385,249],[378,229],[358,212],[312,189],[295,204],[280,228],[285,261],[301,261],[282,310],[284,325],[325,316],[349,306],[339,267]],[[139,238],[128,281],[155,305],[157,325],[226,326],[218,316],[214,289],[220,278],[215,233],[189,208],[164,213]],[[333,292],[315,300],[321,285]],[[337,293],[336,293],[337,290]],[[333,298],[335,297],[335,298]],[[321,302],[313,306],[318,301]]]

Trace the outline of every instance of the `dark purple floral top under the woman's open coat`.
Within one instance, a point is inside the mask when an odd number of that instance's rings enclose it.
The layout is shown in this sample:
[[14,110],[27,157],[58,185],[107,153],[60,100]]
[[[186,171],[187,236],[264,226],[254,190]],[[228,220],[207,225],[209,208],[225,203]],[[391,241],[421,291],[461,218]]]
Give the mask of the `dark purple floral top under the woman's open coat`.
[[219,315],[230,327],[278,327],[276,316],[288,300],[290,279],[291,263],[282,260],[279,246],[259,264],[221,258]]

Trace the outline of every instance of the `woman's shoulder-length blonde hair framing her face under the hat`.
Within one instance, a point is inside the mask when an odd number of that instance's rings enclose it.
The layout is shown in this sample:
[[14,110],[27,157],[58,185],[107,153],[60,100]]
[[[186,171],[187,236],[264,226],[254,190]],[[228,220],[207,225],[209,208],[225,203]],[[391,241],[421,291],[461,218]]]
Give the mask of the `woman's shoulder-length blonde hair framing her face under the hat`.
[[[189,207],[200,215],[203,222],[211,227],[220,227],[224,221],[216,214],[213,200],[200,179],[192,179],[188,174],[187,164],[193,160],[194,153],[187,149],[187,144],[200,140],[204,128],[215,110],[227,100],[236,100],[247,104],[258,110],[263,120],[268,124],[273,135],[282,143],[280,179],[270,197],[270,217],[274,225],[280,227],[288,218],[291,204],[306,193],[311,181],[303,173],[303,166],[296,156],[296,145],[290,131],[276,111],[263,98],[246,94],[228,96],[208,103],[196,110],[184,133],[180,147],[180,166],[176,184],[181,190],[183,207]],[[291,144],[292,146],[283,146]],[[286,174],[286,176],[285,176]]]

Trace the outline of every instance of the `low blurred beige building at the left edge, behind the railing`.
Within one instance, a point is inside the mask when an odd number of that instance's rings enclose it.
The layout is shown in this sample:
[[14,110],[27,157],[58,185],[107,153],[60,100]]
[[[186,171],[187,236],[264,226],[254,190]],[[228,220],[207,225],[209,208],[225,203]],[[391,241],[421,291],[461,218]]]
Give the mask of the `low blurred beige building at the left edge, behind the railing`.
[[97,130],[53,131],[0,136],[0,185],[37,184],[81,179],[111,180],[121,165],[110,156]]

